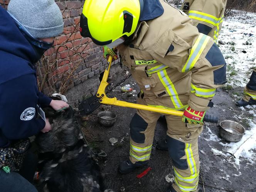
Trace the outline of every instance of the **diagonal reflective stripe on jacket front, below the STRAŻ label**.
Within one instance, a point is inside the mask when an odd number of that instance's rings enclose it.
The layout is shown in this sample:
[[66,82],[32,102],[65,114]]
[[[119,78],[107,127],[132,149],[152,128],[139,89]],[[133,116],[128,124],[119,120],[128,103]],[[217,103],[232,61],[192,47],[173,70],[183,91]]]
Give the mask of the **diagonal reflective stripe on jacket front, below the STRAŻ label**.
[[176,109],[184,107],[179,99],[178,93],[176,89],[174,88],[174,85],[170,78],[167,75],[167,72],[165,69],[162,71],[157,72],[158,77],[160,81],[162,82],[163,86],[165,87],[167,93],[171,97],[172,103]]

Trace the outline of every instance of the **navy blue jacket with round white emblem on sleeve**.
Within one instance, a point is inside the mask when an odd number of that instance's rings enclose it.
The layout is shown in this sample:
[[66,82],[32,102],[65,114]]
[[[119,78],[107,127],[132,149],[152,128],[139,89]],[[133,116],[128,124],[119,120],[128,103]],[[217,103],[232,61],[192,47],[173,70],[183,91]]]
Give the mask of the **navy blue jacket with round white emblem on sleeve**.
[[32,45],[0,6],[0,147],[45,126],[36,106],[49,106],[51,99],[38,91],[35,58]]

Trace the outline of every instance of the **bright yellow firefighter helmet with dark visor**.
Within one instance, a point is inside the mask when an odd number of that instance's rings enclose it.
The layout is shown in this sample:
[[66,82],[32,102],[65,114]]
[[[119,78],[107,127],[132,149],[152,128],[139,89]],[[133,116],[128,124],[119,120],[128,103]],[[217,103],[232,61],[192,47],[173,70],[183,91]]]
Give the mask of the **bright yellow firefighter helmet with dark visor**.
[[86,0],[80,19],[80,33],[97,45],[108,45],[136,30],[143,0]]

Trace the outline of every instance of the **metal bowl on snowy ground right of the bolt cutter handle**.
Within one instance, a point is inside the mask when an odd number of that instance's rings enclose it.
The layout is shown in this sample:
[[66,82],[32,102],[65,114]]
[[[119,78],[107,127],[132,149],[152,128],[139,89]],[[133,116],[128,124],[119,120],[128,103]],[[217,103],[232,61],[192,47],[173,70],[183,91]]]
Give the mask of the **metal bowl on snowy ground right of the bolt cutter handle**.
[[223,120],[219,125],[221,127],[219,134],[224,140],[230,142],[240,141],[246,131],[244,126],[236,121]]

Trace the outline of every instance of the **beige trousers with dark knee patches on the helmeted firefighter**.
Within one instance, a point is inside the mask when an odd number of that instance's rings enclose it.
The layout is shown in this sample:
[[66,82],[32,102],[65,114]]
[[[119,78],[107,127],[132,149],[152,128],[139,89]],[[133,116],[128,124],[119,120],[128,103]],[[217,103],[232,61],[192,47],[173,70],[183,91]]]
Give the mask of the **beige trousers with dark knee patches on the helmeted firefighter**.
[[[138,99],[139,104],[146,104]],[[153,137],[160,113],[138,110],[130,123],[130,160],[132,163],[150,159]],[[167,145],[172,158],[177,192],[197,191],[199,180],[198,136],[201,125],[186,124],[181,117],[166,115]]]

